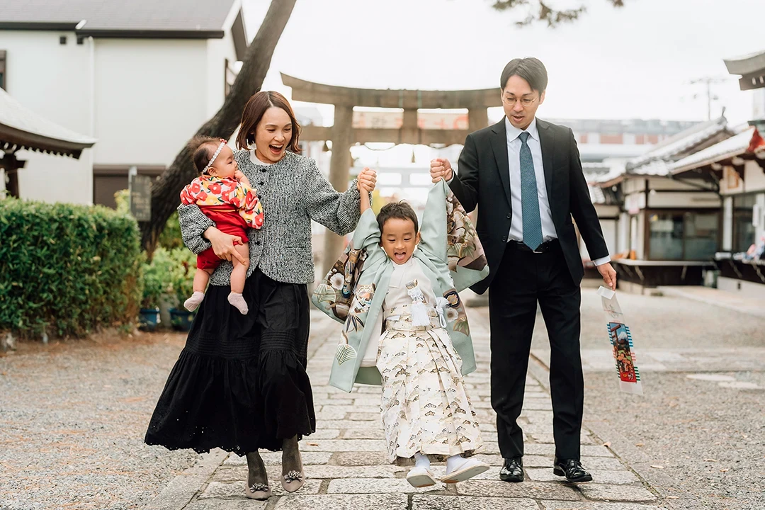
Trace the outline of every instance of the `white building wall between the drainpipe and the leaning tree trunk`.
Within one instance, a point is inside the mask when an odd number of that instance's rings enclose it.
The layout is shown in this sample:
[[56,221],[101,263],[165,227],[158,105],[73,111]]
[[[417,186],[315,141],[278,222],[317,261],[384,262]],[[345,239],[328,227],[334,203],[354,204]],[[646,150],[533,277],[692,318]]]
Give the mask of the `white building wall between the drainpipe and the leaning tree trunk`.
[[170,164],[207,120],[207,41],[98,39],[95,61],[95,163]]

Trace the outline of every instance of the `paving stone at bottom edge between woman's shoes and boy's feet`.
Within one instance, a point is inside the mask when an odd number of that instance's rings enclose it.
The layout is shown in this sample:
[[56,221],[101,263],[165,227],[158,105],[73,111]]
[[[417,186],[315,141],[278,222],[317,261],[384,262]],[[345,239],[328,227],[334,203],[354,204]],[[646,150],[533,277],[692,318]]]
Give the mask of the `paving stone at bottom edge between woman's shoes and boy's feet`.
[[408,505],[403,494],[295,494],[279,499],[275,510],[402,510]]

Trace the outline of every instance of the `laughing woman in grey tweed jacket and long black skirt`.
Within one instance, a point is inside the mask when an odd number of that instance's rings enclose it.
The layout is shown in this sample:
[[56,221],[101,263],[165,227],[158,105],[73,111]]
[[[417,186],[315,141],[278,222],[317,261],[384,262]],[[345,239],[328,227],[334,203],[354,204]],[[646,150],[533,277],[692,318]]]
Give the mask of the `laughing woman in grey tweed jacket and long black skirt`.
[[[180,206],[187,247],[212,246],[226,260],[210,277],[146,434],[146,443],[206,452],[219,447],[246,455],[246,495],[271,495],[259,448],[282,450],[282,486],[303,485],[298,440],[315,430],[308,350],[308,290],[314,281],[311,220],[339,235],[356,228],[360,194],[354,182],[338,193],[299,151],[300,126],[284,96],[259,92],[242,115],[235,158],[259,193],[262,229],[248,229],[249,270],[243,295],[249,313],[226,300],[240,239],[220,232],[195,205]],[[359,180],[375,186],[365,169]]]

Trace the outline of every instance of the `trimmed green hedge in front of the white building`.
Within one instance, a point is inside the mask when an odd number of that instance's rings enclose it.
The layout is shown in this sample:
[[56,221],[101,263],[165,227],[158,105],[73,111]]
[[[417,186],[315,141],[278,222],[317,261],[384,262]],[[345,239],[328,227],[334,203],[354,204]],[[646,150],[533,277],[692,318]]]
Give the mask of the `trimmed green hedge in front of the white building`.
[[141,261],[128,215],[0,200],[0,330],[80,336],[129,323],[142,295]]

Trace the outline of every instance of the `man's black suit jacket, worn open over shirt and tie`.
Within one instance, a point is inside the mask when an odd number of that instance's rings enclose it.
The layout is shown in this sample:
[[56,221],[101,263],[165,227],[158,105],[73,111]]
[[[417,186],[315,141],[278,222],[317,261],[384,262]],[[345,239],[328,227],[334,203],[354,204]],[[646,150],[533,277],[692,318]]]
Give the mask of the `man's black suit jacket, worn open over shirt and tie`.
[[[571,216],[592,260],[606,257],[608,249],[581,170],[574,133],[562,125],[540,119],[536,122],[552,223],[555,224],[571,278],[579,284],[584,276],[584,267]],[[485,280],[470,288],[483,294],[502,261],[513,219],[505,119],[467,135],[458,168],[459,174],[454,174],[449,187],[467,212],[478,206],[476,230],[486,252],[490,273]]]

